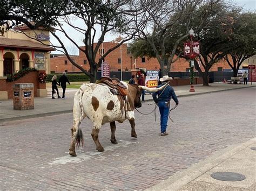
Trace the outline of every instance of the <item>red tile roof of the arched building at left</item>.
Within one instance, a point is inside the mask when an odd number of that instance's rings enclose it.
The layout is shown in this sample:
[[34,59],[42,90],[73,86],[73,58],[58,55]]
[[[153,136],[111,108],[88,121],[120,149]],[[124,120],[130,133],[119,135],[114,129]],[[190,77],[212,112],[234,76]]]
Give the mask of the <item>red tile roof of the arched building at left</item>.
[[54,48],[30,40],[0,38],[0,47],[39,49],[42,51],[55,51]]

